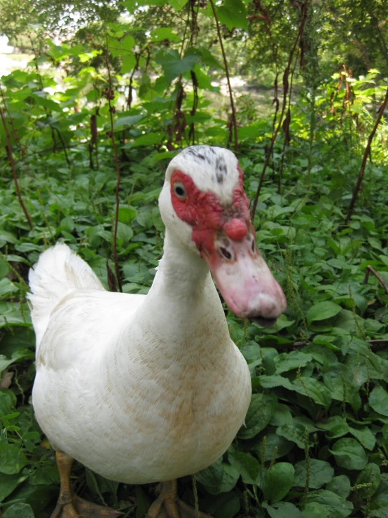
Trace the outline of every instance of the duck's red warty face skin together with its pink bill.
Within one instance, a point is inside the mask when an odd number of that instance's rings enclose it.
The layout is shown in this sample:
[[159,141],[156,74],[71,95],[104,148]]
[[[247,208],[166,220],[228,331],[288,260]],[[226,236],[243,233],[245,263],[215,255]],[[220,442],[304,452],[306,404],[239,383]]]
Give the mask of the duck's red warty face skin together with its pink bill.
[[[193,229],[191,238],[233,313],[275,322],[286,308],[286,299],[257,250],[242,171],[238,170],[239,181],[227,207],[214,193],[200,191],[188,175],[175,170],[171,177],[172,206],[179,219]],[[176,182],[186,190],[183,199],[174,192]]]

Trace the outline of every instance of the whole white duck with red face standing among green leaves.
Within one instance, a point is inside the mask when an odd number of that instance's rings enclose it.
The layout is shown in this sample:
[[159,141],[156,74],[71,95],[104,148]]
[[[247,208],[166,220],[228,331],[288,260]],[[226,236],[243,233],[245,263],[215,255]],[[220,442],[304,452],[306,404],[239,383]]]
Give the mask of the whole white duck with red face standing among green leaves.
[[[29,273],[33,404],[61,476],[53,517],[113,516],[73,495],[72,458],[108,479],[144,484],[193,474],[228,449],[244,423],[251,381],[209,270],[242,318],[265,324],[286,307],[256,248],[231,151],[181,151],[159,206],[164,255],[148,295],[107,292],[64,244],[43,252]],[[190,515],[174,482],[148,514],[165,512]]]

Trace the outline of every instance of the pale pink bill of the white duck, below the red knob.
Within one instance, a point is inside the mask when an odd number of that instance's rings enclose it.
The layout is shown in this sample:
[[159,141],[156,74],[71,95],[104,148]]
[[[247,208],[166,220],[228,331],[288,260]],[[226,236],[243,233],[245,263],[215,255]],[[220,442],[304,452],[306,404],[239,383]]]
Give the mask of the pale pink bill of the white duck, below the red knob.
[[218,247],[203,257],[230,310],[270,327],[286,309],[286,297],[260,252],[251,246],[247,238],[230,241],[231,259],[225,259]]

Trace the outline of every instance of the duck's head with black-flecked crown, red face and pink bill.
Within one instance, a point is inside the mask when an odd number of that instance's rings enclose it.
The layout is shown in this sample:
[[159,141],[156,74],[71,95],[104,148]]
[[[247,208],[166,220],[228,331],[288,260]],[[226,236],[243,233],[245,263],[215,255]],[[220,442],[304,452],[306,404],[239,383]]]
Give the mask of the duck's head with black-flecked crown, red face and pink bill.
[[233,313],[273,325],[286,298],[256,246],[236,156],[220,147],[183,149],[169,163],[159,206],[169,234],[207,262]]

